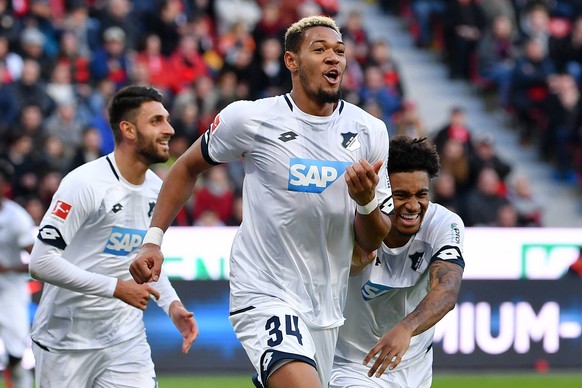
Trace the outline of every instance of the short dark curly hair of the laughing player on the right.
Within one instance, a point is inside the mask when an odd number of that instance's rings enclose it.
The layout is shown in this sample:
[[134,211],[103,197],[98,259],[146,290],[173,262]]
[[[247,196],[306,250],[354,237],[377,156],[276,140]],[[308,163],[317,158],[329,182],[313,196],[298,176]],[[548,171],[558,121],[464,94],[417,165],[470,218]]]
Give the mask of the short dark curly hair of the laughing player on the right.
[[436,147],[426,137],[397,135],[390,140],[388,173],[426,171],[430,178],[434,178],[440,167]]

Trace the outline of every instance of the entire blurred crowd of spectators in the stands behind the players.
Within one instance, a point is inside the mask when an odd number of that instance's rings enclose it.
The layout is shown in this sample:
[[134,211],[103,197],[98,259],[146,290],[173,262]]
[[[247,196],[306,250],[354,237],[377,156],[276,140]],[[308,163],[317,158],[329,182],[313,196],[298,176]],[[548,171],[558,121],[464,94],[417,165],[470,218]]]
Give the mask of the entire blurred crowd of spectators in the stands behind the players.
[[[445,54],[451,77],[498,91],[500,106],[523,127],[524,144],[539,139],[560,176],[579,179],[582,55],[568,57],[569,45],[582,44],[576,1],[378,2],[407,21],[419,46]],[[9,197],[40,222],[68,171],[112,151],[107,102],[127,84],[155,86],[166,98],[176,134],[170,160],[155,167],[163,178],[224,106],[289,91],[289,24],[338,11],[337,0],[0,0],[0,158],[16,171]],[[442,172],[433,200],[467,226],[542,226],[528,177],[511,173],[494,139],[475,133],[461,107],[451,107],[443,128],[426,128],[390,43],[370,37],[357,8],[342,16],[343,98],[383,119],[390,135],[434,141]],[[499,20],[509,24],[504,44],[495,40]],[[240,163],[209,170],[174,225],[240,224],[243,178]]]

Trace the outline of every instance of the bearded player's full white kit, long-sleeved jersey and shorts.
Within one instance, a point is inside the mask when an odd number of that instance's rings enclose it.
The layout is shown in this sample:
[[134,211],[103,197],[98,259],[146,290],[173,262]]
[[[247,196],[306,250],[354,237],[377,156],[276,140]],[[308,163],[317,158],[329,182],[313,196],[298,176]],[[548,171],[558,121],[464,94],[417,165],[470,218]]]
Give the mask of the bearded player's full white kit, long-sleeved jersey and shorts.
[[[45,283],[31,334],[40,387],[81,387],[83,379],[97,376],[106,386],[118,378],[116,373],[133,374],[135,387],[156,386],[143,313],[113,292],[117,279],[131,279],[129,265],[149,227],[160,187],[152,171],[139,186],[127,182],[113,153],[62,180],[31,254],[33,276],[34,269],[54,283]],[[168,278],[162,274],[151,285],[161,295],[156,303],[168,313],[178,300]],[[55,368],[65,360],[79,365],[77,373]],[[144,380],[136,380],[138,375]]]

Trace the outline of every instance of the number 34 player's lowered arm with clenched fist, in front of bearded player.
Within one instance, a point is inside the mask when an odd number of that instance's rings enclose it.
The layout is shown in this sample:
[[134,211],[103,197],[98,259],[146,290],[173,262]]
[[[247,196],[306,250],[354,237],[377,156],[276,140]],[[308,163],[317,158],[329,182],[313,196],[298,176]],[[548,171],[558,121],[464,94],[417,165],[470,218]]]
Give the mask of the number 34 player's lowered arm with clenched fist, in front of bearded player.
[[159,232],[159,238],[154,244],[144,244],[130,265],[131,276],[137,283],[158,281],[164,258],[161,254],[153,253],[155,246],[157,245],[159,249],[163,232],[172,224],[182,206],[192,195],[198,175],[212,166],[204,159],[200,144],[199,138],[172,165],[164,180],[150,223],[150,230]]

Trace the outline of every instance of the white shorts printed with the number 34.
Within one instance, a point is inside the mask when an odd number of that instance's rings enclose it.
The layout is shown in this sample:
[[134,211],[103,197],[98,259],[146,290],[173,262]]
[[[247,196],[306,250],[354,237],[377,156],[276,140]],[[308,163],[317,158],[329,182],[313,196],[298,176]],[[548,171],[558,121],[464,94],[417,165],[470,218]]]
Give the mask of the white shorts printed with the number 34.
[[229,319],[263,387],[277,367],[295,360],[316,368],[322,386],[327,387],[339,327],[310,329],[283,303],[231,312]]

